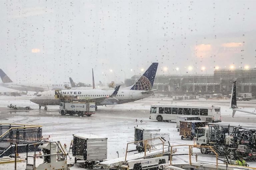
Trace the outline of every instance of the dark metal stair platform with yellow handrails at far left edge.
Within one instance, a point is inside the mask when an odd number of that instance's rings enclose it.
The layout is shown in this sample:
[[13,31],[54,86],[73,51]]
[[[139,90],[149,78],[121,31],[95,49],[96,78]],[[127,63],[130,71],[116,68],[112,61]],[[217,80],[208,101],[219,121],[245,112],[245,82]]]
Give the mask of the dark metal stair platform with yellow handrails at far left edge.
[[[25,153],[28,143],[35,143],[42,138],[41,127],[21,124],[0,124],[0,158],[14,154],[15,144],[17,144],[17,153]],[[34,150],[34,146],[29,148],[29,150]]]

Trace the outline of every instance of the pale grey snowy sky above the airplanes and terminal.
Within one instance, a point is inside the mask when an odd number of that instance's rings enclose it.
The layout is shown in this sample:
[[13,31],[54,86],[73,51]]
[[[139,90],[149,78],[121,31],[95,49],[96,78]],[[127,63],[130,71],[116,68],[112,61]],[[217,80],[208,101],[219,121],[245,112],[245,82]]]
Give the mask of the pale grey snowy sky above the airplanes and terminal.
[[256,65],[253,0],[1,0],[0,9],[0,68],[16,82],[91,83],[91,68],[96,82],[118,82],[151,62],[157,74]]

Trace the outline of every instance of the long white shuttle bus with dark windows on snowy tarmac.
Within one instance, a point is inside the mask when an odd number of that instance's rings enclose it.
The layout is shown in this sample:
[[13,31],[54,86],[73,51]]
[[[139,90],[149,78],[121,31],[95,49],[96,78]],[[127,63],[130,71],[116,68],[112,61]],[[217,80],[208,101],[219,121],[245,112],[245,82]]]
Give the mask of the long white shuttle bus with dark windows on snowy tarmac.
[[158,122],[176,122],[179,116],[198,116],[206,123],[221,122],[220,107],[218,106],[164,106],[151,105],[149,119]]

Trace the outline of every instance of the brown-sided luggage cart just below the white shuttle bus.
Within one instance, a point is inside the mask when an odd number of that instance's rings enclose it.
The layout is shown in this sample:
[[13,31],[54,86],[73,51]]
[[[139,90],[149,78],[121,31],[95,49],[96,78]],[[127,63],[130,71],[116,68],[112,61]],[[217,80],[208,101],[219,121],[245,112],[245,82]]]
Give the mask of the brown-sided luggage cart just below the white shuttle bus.
[[205,127],[205,121],[181,121],[180,135],[181,139],[193,140],[197,134],[197,128]]

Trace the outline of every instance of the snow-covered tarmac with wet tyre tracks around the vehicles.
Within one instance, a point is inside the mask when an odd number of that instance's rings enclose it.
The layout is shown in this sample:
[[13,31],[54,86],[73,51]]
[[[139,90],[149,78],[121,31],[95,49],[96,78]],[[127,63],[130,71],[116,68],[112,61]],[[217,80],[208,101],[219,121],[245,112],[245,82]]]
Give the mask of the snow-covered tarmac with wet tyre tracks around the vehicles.
[[[176,129],[176,123],[157,122],[149,120],[149,109],[151,104],[163,105],[191,105],[191,106],[211,106],[221,107],[222,120],[233,125],[255,127],[256,115],[236,113],[232,118],[232,111],[229,109],[229,100],[207,101],[205,99],[190,101],[172,101],[170,98],[147,98],[136,102],[113,105],[98,106],[98,111],[91,117],[61,116],[58,106],[49,106],[48,110],[38,110],[38,105],[31,103],[31,96],[0,96],[0,122],[16,124],[33,124],[43,126],[44,137],[51,136],[53,140],[59,140],[62,144],[66,143],[68,148],[76,133],[93,133],[108,137],[108,159],[116,158],[116,151],[119,156],[125,155],[126,143],[134,140],[134,127],[137,125],[136,119],[143,120],[138,123],[139,127],[159,128],[161,132],[169,132],[171,145],[193,144],[190,140],[181,140]],[[16,104],[17,106],[30,106],[34,110],[12,111],[7,109],[7,105]],[[239,107],[248,107],[250,111],[255,111],[256,101],[238,102]],[[130,148],[134,146],[131,145]],[[179,149],[178,149],[179,151]],[[180,152],[187,152],[185,148],[180,148]],[[201,158],[208,159],[208,158]],[[209,158],[212,159],[212,158]],[[173,157],[173,162],[187,162],[188,157]],[[74,158],[68,160],[73,163]],[[256,167],[256,163],[250,162]],[[9,170],[11,165],[0,164],[1,170]],[[84,169],[82,161],[74,165],[71,170]],[[12,169],[12,168],[11,168]],[[18,169],[24,170],[25,164],[18,163]]]

